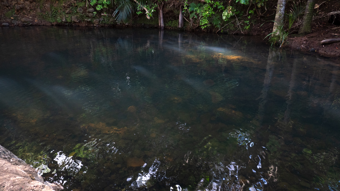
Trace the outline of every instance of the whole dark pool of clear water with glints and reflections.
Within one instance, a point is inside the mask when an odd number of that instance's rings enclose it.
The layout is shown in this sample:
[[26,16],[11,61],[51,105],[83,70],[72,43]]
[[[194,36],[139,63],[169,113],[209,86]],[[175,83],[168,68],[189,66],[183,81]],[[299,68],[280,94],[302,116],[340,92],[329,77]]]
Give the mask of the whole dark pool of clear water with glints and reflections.
[[261,38],[0,28],[0,145],[65,190],[340,190],[339,59]]

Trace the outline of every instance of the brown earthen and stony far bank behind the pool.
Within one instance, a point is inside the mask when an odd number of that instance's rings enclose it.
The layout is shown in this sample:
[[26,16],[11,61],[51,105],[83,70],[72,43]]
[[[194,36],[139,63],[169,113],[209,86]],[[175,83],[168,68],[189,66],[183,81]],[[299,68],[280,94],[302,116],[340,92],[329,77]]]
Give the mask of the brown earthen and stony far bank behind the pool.
[[[325,39],[339,38],[340,27],[338,20],[331,20],[327,13],[337,11],[340,4],[320,4],[318,7],[319,19],[312,23],[312,32],[308,35],[297,34],[296,28],[292,28],[284,48],[297,50],[302,52],[310,52],[320,54],[325,57],[340,56],[340,42],[321,44]],[[36,1],[36,0],[18,0],[7,1],[2,0],[0,3],[0,25],[6,26],[41,26],[41,25],[57,25],[57,26],[84,26],[84,27],[158,27],[158,15],[154,13],[154,17],[147,19],[144,15],[134,16],[128,23],[119,24],[116,22],[112,14],[96,13],[94,8],[91,8],[85,1]],[[171,12],[171,8],[166,10]],[[247,30],[241,27],[229,27],[218,31],[216,34],[231,34],[231,35],[252,35],[263,36],[263,39],[272,32],[275,9],[268,9],[268,15],[256,18],[255,15],[248,17],[247,22],[250,22]],[[174,14],[171,17],[165,18],[165,30],[184,30],[194,32],[212,32],[214,28],[206,28],[202,30],[200,27],[193,26],[193,23],[185,21],[184,27],[177,27],[178,20]],[[263,17],[263,18],[262,18]],[[267,37],[268,39],[268,37]],[[271,42],[268,42],[271,43]]]

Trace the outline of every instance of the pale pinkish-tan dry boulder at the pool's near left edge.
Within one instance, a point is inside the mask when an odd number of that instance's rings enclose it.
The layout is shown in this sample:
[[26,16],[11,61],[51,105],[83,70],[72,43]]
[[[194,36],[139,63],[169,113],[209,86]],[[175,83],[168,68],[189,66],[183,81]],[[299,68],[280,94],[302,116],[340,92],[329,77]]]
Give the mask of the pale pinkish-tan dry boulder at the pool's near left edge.
[[1,190],[60,191],[61,185],[44,182],[43,177],[23,160],[0,145]]

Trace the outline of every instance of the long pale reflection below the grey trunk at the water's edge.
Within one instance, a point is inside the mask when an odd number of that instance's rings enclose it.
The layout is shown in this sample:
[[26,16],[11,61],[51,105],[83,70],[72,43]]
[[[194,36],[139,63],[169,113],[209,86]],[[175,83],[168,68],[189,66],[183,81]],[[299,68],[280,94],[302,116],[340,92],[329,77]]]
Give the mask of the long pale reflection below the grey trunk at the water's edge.
[[267,102],[267,94],[270,89],[270,82],[274,73],[274,60],[276,55],[276,50],[273,50],[272,48],[269,48],[269,54],[268,54],[268,60],[267,60],[267,68],[266,68],[266,74],[265,74],[265,80],[263,81],[263,88],[261,91],[261,95],[256,98],[256,100],[260,99],[258,112],[257,112],[257,119],[259,122],[259,125],[261,125],[263,120],[263,114],[265,113],[265,104]]

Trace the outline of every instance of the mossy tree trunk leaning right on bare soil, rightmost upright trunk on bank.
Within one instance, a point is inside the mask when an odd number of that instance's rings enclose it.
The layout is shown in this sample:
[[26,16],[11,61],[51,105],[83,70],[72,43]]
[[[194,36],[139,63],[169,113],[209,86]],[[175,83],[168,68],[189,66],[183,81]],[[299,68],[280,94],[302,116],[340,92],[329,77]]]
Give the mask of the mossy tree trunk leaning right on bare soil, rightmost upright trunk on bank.
[[308,0],[299,34],[309,34],[312,32],[312,20],[315,3],[316,0]]

